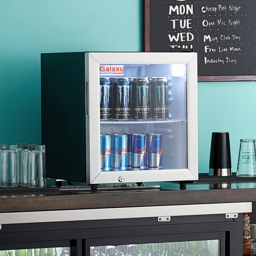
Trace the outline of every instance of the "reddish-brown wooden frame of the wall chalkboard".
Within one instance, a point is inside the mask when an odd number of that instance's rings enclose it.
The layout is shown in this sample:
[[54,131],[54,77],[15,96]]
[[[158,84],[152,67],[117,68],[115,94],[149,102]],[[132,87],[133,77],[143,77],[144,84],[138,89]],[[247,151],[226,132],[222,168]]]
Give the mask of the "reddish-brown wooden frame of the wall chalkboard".
[[[150,52],[150,0],[143,0],[143,51]],[[256,76],[198,76],[198,81],[256,81]]]

